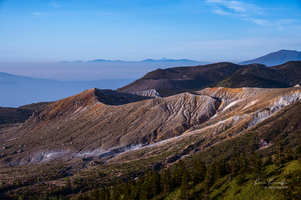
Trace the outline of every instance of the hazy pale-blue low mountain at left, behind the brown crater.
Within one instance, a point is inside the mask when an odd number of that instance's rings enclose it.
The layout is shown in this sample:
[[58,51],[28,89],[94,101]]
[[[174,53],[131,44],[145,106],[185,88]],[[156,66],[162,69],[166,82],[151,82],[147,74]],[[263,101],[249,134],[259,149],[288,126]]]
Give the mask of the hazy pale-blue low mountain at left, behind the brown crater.
[[18,107],[41,101],[56,101],[90,88],[116,89],[135,80],[135,78],[128,78],[57,81],[0,72],[0,106]]

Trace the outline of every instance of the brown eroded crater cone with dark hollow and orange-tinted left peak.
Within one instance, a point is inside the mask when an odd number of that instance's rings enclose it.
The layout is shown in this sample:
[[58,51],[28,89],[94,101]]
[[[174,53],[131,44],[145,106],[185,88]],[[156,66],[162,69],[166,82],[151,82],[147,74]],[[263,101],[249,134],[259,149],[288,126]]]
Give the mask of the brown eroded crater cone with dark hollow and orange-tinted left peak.
[[[142,101],[135,102],[139,98]],[[46,161],[49,155],[81,157],[91,152],[101,157],[137,148],[206,121],[220,104],[212,97],[189,93],[143,99],[145,96],[90,89],[39,109],[17,131],[2,134],[2,143],[13,139],[10,149],[30,152],[25,160],[11,155],[6,161],[18,165]]]

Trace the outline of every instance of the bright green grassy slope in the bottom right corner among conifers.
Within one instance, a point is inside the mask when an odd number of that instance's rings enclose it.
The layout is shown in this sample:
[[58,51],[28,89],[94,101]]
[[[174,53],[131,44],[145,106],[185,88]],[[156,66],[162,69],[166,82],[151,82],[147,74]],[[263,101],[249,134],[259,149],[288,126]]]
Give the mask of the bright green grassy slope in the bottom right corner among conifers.
[[[278,169],[278,173],[275,173],[274,165],[269,165],[265,168],[265,172],[262,177],[262,182],[268,182],[269,178],[274,178],[273,181],[281,182],[281,180],[286,180],[285,182],[289,182],[290,179],[288,179],[291,175],[296,175],[296,173],[300,172],[301,170],[301,164],[300,161],[291,161],[282,168]],[[299,177],[301,178],[301,177]],[[247,181],[243,184],[237,184],[236,178],[233,178],[233,181],[231,183],[227,183],[227,180],[229,179],[229,175],[223,177],[220,182],[222,183],[221,186],[218,188],[211,187],[209,191],[209,198],[208,199],[225,199],[225,200],[231,200],[231,199],[245,199],[245,200],[253,200],[253,199],[271,199],[271,200],[281,200],[281,199],[291,199],[289,197],[289,194],[286,193],[287,189],[275,189],[275,188],[268,188],[265,189],[264,187],[267,186],[267,184],[256,184],[255,180],[253,179],[252,175],[247,175]],[[271,181],[271,182],[273,182]],[[191,183],[192,184],[192,183]],[[202,186],[202,183],[193,186],[191,185],[191,192],[193,190],[200,190]],[[270,186],[279,186],[279,184],[272,184]],[[284,184],[283,186],[288,187],[295,187],[295,190],[299,190],[300,192],[300,186],[293,186],[290,183]],[[165,198],[154,198],[154,199],[164,199],[164,200],[178,200],[179,198],[179,188],[170,193]]]

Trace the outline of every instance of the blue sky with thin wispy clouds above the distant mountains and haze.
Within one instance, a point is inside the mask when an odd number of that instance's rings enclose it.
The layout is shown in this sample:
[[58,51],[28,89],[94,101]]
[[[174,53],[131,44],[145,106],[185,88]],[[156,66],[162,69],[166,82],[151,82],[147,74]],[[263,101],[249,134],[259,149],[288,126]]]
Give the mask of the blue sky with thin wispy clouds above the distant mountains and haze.
[[0,63],[301,51],[301,1],[1,1]]

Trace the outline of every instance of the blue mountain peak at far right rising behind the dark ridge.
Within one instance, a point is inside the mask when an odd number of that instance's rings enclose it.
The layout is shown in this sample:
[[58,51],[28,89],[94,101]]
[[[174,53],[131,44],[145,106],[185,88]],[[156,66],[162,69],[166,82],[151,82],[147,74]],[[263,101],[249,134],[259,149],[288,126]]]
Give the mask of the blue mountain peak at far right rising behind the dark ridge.
[[247,61],[244,61],[244,62],[241,62],[238,64],[239,65],[248,65],[248,64],[252,64],[252,63],[260,63],[265,66],[275,66],[275,65],[281,65],[290,60],[293,60],[293,61],[301,60],[301,52],[282,49],[280,51],[269,53],[265,56],[256,58],[254,60],[247,60]]

